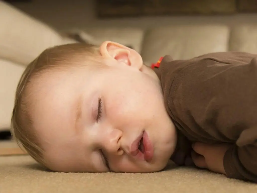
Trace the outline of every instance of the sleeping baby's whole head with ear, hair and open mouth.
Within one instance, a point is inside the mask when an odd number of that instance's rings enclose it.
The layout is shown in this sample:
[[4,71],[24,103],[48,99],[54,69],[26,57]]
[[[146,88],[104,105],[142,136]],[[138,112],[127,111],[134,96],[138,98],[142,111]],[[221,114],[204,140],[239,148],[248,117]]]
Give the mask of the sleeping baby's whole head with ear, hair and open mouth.
[[159,171],[176,145],[157,75],[110,41],[43,51],[18,84],[12,128],[36,161],[60,172]]

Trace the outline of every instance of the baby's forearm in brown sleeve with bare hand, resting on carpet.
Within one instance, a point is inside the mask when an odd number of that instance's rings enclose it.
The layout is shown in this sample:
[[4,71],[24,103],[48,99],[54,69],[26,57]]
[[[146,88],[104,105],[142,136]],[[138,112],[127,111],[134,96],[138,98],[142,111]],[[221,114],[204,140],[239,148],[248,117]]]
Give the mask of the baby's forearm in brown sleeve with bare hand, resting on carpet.
[[206,168],[228,178],[257,182],[257,147],[246,145],[195,143],[192,159],[199,168]]

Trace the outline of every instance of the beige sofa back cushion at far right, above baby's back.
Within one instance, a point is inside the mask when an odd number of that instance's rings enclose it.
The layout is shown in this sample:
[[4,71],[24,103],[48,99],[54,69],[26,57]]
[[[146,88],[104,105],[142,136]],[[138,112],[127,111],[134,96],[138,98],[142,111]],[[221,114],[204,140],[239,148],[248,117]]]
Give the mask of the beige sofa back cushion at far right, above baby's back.
[[229,50],[257,53],[257,26],[238,25],[233,27]]

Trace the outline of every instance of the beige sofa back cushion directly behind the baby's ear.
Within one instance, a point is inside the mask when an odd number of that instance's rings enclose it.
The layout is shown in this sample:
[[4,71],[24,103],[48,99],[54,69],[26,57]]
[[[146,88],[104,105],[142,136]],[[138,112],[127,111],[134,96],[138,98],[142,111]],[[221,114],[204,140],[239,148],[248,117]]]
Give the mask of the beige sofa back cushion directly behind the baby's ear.
[[141,52],[144,31],[134,28],[92,28],[85,29],[90,36],[93,36],[98,45],[103,41],[114,41],[125,46],[131,46],[137,52]]

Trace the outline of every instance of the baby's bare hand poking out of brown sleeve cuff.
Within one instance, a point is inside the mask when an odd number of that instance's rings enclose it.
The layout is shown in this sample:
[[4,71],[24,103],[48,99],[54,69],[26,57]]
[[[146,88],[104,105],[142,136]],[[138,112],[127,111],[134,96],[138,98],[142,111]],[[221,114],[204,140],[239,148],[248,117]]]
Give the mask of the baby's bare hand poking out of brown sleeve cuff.
[[225,174],[223,166],[223,158],[231,145],[220,144],[210,145],[204,143],[194,143],[192,145],[193,152],[191,154],[192,160],[199,168],[209,169],[216,173]]

